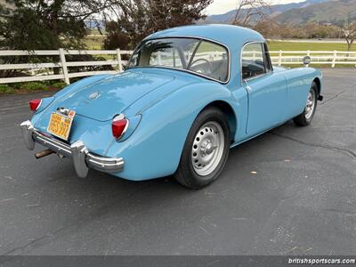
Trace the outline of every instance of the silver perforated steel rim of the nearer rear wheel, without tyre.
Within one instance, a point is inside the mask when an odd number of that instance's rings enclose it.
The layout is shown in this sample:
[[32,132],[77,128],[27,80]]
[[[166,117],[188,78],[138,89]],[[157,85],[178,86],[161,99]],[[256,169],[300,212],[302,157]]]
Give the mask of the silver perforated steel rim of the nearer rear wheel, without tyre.
[[191,148],[191,163],[194,171],[201,176],[214,172],[223,157],[223,128],[211,121],[200,127]]

